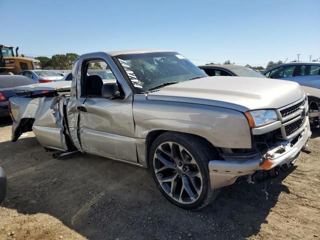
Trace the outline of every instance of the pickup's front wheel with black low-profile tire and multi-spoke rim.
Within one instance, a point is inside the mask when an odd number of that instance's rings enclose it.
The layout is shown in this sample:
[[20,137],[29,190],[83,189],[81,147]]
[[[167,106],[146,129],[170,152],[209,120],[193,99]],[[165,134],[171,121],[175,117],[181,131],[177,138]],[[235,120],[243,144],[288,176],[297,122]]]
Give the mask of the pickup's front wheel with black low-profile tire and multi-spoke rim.
[[[212,147],[211,147],[212,148]],[[208,162],[214,152],[196,136],[165,132],[158,136],[149,151],[153,180],[173,204],[189,210],[209,204],[220,192],[211,189]]]

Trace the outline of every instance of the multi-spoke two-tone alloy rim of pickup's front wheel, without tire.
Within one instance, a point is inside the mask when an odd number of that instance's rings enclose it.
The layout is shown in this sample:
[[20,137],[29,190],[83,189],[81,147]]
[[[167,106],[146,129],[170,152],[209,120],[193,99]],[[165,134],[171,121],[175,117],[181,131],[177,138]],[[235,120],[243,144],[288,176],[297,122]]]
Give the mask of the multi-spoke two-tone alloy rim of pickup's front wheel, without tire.
[[202,175],[194,157],[180,144],[161,143],[153,156],[153,169],[162,189],[177,202],[196,201],[202,191]]

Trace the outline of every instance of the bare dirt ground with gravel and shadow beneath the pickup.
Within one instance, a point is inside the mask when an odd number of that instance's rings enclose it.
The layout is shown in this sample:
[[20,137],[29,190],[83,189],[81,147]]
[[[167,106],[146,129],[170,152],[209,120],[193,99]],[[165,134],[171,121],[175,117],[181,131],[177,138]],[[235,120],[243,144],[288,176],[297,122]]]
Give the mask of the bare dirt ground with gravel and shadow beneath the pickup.
[[[0,119],[7,197],[0,239],[319,239],[320,131],[290,174],[263,183],[240,178],[199,211],[170,204],[147,169],[89,156],[53,159],[32,132],[10,141]],[[282,180],[282,181],[281,181]]]

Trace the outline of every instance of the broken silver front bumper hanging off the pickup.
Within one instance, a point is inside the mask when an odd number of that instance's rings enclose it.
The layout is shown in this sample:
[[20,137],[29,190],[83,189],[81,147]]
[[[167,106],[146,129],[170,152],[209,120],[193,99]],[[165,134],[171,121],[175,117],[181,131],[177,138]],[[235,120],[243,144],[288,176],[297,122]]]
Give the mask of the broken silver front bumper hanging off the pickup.
[[[246,156],[245,159],[239,157],[228,157],[226,160],[210,160],[209,176],[211,188],[227,186],[236,180],[237,177],[252,174],[256,170],[271,169],[275,166],[294,163],[298,157],[301,148],[311,135],[309,122],[303,126],[303,130],[299,133],[299,139],[292,145],[287,144],[288,141],[283,140],[282,144],[274,146],[265,154],[266,160],[262,162],[259,154]],[[283,146],[281,146],[283,145]]]

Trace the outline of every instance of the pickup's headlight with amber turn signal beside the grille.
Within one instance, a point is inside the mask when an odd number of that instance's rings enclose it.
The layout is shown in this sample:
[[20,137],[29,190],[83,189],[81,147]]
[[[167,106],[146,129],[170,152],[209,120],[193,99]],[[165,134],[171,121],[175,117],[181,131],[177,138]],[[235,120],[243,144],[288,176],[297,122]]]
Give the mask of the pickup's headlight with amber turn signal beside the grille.
[[244,112],[250,127],[269,124],[278,119],[275,110],[253,110]]

